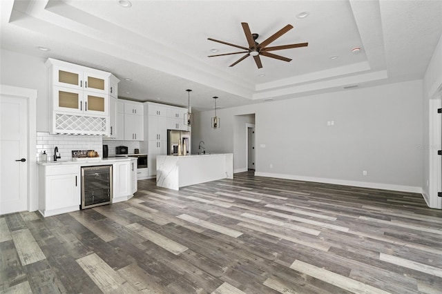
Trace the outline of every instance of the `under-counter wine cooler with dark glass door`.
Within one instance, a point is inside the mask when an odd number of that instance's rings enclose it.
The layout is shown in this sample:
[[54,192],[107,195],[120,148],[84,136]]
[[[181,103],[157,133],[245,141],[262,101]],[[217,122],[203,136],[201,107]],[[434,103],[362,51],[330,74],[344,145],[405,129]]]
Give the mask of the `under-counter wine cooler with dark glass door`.
[[112,202],[112,166],[81,166],[81,209]]

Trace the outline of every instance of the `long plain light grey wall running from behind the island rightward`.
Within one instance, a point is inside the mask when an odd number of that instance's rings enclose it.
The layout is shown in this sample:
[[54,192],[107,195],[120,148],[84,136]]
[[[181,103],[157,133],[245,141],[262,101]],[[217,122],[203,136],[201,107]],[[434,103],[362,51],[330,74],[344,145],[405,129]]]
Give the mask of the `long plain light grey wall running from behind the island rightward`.
[[220,109],[220,130],[210,128],[213,111],[198,112],[207,123],[192,136],[237,157],[234,117],[255,113],[258,175],[419,192],[422,107],[422,81],[409,81]]

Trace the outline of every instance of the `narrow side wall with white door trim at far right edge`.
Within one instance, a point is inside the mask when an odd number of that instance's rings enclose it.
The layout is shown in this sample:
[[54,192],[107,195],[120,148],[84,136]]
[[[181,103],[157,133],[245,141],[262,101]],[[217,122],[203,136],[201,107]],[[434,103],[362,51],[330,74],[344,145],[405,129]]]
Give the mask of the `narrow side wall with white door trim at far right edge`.
[[[432,208],[442,208],[437,192],[441,188],[441,115],[435,113],[441,107],[442,86],[442,36],[423,77],[423,195]],[[438,90],[439,89],[439,90]]]

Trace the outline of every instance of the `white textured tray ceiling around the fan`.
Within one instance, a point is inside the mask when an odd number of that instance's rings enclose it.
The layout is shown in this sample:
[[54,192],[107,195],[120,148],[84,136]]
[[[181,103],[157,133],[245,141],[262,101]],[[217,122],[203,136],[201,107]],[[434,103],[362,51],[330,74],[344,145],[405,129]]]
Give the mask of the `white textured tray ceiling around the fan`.
[[[213,96],[226,108],[421,79],[442,34],[439,0],[131,3],[2,0],[1,47],[113,72],[122,80],[119,97],[185,106],[191,88],[191,105],[204,110]],[[242,55],[207,57],[213,48],[238,52],[209,37],[247,47],[241,22],[258,42],[291,24],[271,46],[309,46],[274,52],[289,63],[261,57],[261,69],[251,57],[233,67]]]

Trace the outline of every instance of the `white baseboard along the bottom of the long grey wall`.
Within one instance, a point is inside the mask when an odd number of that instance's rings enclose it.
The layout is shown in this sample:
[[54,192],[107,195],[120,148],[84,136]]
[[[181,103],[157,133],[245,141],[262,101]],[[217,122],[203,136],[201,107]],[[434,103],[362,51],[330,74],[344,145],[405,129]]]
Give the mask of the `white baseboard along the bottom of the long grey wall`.
[[318,182],[318,183],[326,183],[326,184],[336,184],[336,185],[355,186],[355,187],[361,187],[361,188],[374,188],[374,189],[383,189],[383,190],[394,190],[394,191],[419,193],[419,194],[423,193],[422,187],[414,187],[414,186],[402,186],[402,185],[371,183],[371,182],[354,182],[354,181],[347,181],[344,179],[327,179],[327,178],[323,178],[323,177],[303,177],[303,176],[298,176],[298,175],[284,175],[284,174],[278,174],[278,173],[258,173],[258,172],[255,172],[255,175],[259,176],[259,177],[276,177],[278,179],[294,179],[296,181],[305,181],[305,182]]

